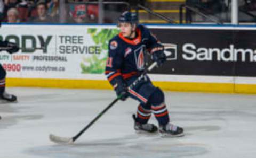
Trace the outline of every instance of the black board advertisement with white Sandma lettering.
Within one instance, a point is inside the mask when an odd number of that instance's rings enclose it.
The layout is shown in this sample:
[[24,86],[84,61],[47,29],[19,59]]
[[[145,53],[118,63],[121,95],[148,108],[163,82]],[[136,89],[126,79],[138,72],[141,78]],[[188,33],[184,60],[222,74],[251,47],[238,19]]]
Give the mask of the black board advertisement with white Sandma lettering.
[[151,30],[166,45],[166,51],[172,52],[154,74],[256,76],[256,29]]

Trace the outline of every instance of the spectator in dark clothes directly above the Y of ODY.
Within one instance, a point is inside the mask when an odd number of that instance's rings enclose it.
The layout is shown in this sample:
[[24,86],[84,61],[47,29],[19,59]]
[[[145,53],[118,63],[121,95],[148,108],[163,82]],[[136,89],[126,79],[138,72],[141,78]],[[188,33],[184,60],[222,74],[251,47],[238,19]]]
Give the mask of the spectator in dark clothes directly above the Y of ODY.
[[38,2],[37,6],[37,14],[38,17],[36,17],[34,20],[31,20],[33,22],[37,22],[37,23],[53,23],[54,20],[52,19],[51,16],[47,15],[47,5],[45,2]]

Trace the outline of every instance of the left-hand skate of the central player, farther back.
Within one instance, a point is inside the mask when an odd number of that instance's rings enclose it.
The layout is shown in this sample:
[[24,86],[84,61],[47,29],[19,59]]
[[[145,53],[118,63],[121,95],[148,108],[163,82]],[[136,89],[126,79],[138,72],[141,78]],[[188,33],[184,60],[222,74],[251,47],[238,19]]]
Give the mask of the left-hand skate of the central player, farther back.
[[137,133],[147,132],[147,133],[155,133],[157,131],[157,127],[154,124],[141,124],[137,121],[135,114],[132,115],[134,120],[134,129]]

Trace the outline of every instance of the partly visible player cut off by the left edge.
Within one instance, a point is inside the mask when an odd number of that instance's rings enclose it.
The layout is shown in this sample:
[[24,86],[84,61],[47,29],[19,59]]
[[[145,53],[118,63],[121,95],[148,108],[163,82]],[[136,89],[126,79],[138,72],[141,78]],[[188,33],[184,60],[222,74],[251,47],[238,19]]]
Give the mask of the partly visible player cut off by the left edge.
[[[0,28],[1,28],[1,21],[0,21]],[[9,42],[9,41],[0,41],[0,51],[5,50],[9,52],[9,54],[13,54],[14,52],[19,51],[19,47],[15,45],[15,43]],[[17,101],[17,97],[13,94],[8,94],[5,91],[5,76],[6,71],[2,67],[0,63],[0,100],[6,100],[6,101]]]

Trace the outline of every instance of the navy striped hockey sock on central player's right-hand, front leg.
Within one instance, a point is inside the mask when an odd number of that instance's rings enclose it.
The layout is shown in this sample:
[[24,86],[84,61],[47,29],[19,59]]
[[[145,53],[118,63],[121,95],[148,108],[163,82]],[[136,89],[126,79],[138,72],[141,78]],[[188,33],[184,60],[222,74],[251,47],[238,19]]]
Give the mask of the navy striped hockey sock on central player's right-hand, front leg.
[[149,98],[151,111],[154,113],[159,125],[166,125],[169,122],[169,113],[164,102],[164,93],[157,88]]

